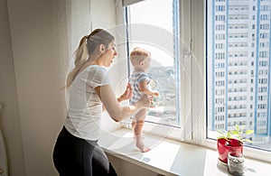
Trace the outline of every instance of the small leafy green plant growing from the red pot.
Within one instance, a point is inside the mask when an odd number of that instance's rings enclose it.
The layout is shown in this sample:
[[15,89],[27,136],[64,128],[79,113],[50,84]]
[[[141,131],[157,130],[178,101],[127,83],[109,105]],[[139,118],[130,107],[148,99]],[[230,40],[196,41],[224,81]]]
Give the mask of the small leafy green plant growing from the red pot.
[[253,130],[245,130],[244,126],[239,126],[236,125],[234,130],[229,130],[225,132],[218,131],[220,136],[218,139],[237,139],[240,142],[248,142],[248,143],[253,143],[251,140],[247,139],[244,137],[245,134],[253,134]]

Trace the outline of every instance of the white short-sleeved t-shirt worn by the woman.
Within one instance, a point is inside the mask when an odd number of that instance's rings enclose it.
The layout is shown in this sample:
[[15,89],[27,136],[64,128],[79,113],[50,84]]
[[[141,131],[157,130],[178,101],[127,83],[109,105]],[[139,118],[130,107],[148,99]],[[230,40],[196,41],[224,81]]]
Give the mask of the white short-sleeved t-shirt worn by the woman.
[[102,103],[95,88],[109,84],[104,67],[91,65],[79,72],[70,85],[68,116],[64,124],[70,134],[86,140],[98,140]]

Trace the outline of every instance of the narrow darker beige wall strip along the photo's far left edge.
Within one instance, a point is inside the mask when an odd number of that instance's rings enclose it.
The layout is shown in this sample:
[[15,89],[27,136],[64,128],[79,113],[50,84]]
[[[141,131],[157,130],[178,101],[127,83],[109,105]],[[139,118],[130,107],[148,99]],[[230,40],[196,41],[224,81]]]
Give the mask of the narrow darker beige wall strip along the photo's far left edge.
[[25,176],[21,121],[6,0],[0,0],[0,23],[0,104],[3,105],[0,128],[5,138],[9,175]]

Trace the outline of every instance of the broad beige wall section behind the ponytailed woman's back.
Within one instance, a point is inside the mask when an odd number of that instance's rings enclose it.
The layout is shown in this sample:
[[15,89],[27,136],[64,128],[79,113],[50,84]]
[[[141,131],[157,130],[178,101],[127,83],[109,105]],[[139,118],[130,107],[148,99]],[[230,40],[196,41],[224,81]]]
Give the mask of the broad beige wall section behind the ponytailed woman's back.
[[52,54],[52,1],[8,0],[27,176],[56,175],[52,146],[63,118]]

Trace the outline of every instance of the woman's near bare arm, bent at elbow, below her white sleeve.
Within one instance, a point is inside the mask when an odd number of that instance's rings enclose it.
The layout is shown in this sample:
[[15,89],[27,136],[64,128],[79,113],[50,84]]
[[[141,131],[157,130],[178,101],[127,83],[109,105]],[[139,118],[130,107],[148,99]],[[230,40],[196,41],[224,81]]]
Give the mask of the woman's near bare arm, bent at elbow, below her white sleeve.
[[107,113],[116,122],[133,116],[139,109],[143,107],[150,107],[151,105],[150,99],[147,96],[143,96],[135,103],[135,106],[120,107],[110,85],[97,87],[95,90],[103,105],[106,107]]

